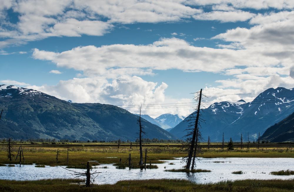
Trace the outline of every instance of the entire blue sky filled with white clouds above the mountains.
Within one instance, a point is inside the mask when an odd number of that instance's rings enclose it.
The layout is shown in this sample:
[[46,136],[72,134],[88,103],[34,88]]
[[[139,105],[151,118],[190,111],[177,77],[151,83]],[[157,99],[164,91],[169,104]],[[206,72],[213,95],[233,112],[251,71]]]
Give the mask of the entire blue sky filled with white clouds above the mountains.
[[0,5],[0,84],[151,117],[186,117],[201,88],[209,103],[294,87],[293,0]]

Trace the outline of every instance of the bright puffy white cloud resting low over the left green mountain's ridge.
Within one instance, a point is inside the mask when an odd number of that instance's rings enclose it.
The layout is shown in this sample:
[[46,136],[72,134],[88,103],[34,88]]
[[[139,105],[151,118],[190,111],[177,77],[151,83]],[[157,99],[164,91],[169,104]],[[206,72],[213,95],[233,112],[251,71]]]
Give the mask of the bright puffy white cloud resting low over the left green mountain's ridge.
[[[54,95],[63,100],[73,102],[106,103],[112,105],[124,105],[128,111],[139,112],[139,106],[149,104],[161,104],[171,100],[165,100],[164,91],[168,85],[162,82],[145,81],[137,76],[121,76],[108,82],[105,77],[73,78],[59,81],[57,85],[28,86],[32,89]],[[185,101],[185,100],[182,100]],[[175,100],[173,100],[175,102]],[[176,102],[180,102],[177,100]],[[142,112],[157,117],[168,109],[157,106],[144,107]],[[189,109],[172,109],[181,115],[189,114]]]

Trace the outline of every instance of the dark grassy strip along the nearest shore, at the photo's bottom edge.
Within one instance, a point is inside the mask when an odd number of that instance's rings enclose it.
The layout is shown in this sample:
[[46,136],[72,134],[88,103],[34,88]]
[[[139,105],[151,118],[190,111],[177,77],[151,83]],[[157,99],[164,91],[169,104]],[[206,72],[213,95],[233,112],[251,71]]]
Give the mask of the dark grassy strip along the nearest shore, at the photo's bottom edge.
[[[96,179],[98,181],[99,178]],[[0,180],[0,191],[138,191],[138,192],[178,192],[178,191],[240,191],[240,192],[273,192],[293,191],[294,180],[240,180],[240,181],[224,181],[219,183],[195,184],[186,180],[138,180],[138,181],[118,181],[113,185],[93,185],[86,188],[79,186],[77,183],[81,180],[76,179],[53,179],[39,181],[5,181]]]

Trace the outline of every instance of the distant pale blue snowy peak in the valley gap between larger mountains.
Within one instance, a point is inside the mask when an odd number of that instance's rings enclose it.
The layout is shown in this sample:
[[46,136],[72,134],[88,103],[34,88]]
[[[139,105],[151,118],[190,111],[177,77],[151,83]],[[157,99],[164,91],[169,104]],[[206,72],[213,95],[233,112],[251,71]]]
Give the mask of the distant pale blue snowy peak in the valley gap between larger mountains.
[[[139,115],[139,114],[135,114],[135,115]],[[162,114],[156,117],[155,119],[153,119],[152,117],[146,114],[141,114],[141,117],[167,131],[170,131],[173,127],[175,127],[177,124],[183,121],[183,119],[181,119],[177,114],[173,115],[169,113]]]

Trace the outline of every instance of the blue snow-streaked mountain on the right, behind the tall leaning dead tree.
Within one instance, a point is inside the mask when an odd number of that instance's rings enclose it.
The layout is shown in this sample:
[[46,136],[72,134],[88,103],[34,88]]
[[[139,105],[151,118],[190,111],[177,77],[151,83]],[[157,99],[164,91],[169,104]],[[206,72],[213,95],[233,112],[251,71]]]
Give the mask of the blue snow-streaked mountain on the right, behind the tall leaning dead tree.
[[[280,122],[294,112],[294,90],[278,87],[260,93],[252,102],[216,102],[201,112],[206,123],[201,124],[204,139],[210,136],[211,141],[221,141],[224,132],[225,140],[232,137],[240,140],[241,134],[253,140],[262,135],[271,125]],[[185,120],[189,118],[186,117]],[[183,137],[188,123],[183,121],[171,129],[177,137]]]

